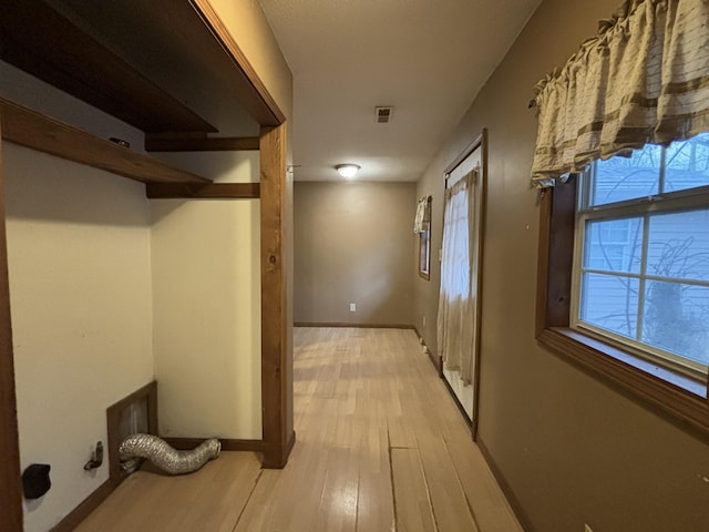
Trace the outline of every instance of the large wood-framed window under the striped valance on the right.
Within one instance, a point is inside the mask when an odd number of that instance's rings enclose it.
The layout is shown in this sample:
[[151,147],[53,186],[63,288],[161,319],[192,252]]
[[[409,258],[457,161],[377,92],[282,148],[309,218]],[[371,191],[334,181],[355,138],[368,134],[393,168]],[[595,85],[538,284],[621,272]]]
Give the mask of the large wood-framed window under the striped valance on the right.
[[709,428],[709,134],[598,161],[544,204],[540,340]]

